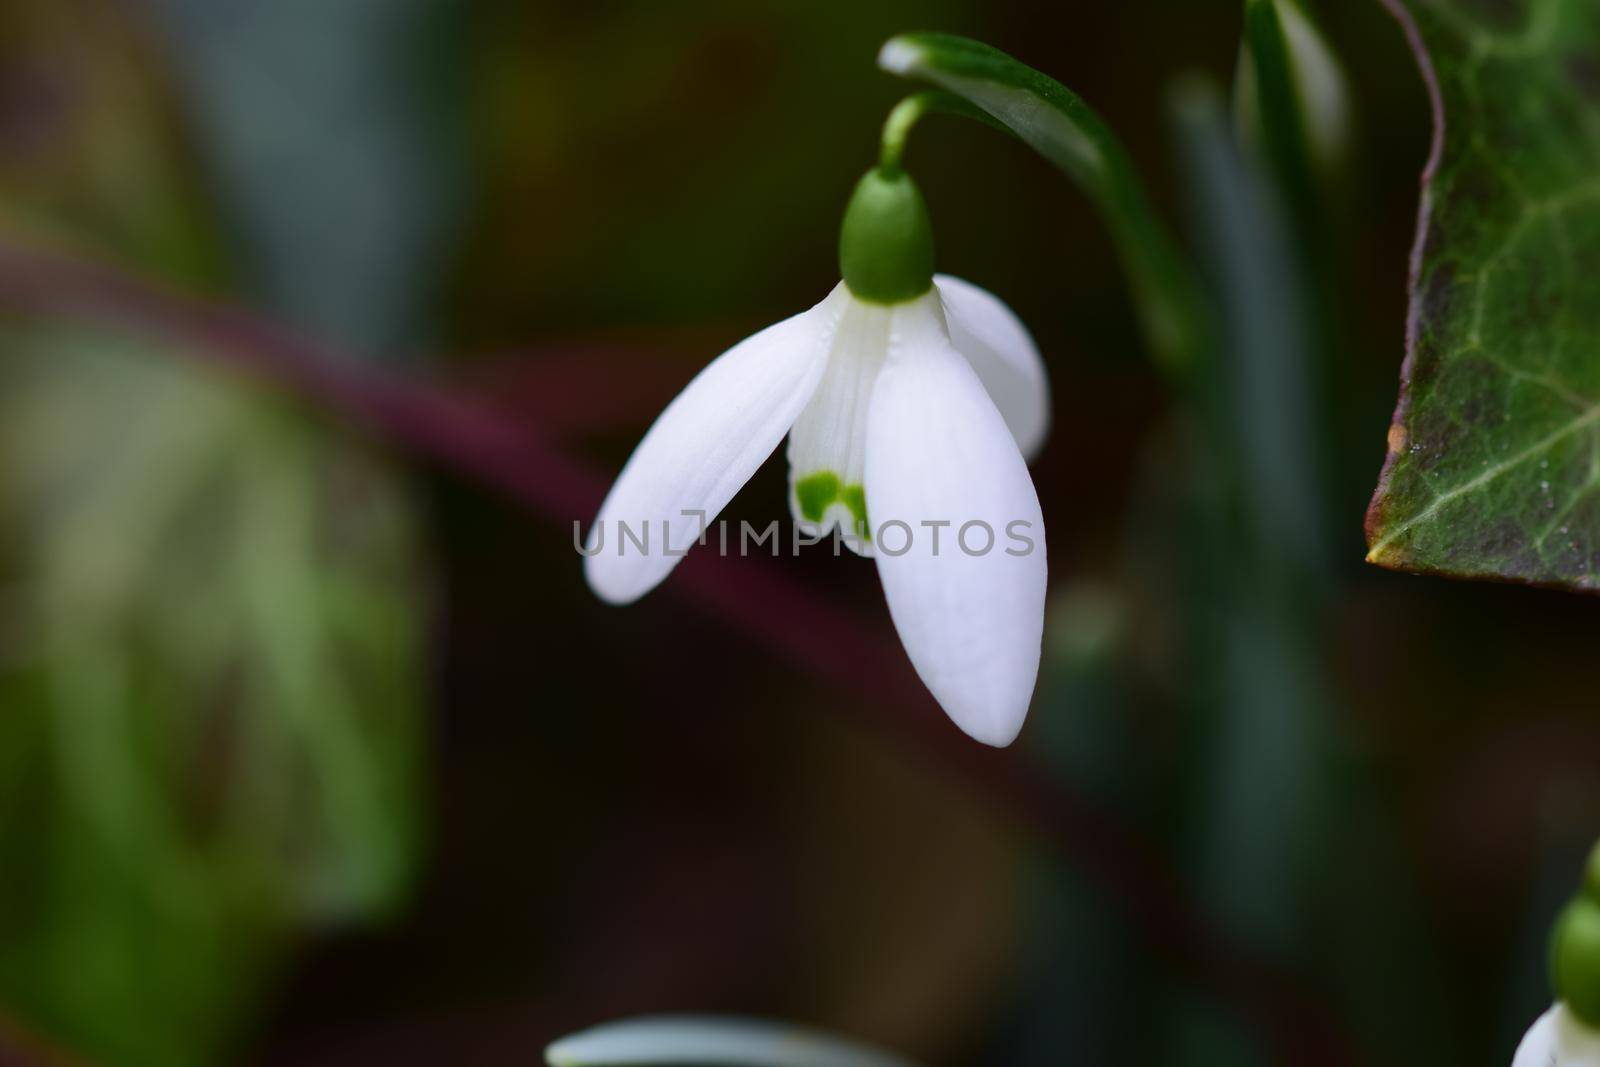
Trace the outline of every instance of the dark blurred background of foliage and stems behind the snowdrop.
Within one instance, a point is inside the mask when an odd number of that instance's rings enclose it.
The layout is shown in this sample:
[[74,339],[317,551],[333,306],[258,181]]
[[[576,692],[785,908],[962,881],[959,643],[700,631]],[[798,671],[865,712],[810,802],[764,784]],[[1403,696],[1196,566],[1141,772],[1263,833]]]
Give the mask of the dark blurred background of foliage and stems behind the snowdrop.
[[[1427,102],[1376,0],[1318,14],[1355,128],[1283,323],[1168,94],[1226,93],[1237,3],[5,0],[0,1059],[533,1064],[702,1009],[930,1067],[1509,1062],[1600,830],[1600,619],[1362,563]],[[941,269],[1054,384],[1005,752],[870,563],[707,553],[619,611],[573,550],[837,282],[912,29],[1098,107],[1227,339],[1171,390],[1083,197],[917,131]]]

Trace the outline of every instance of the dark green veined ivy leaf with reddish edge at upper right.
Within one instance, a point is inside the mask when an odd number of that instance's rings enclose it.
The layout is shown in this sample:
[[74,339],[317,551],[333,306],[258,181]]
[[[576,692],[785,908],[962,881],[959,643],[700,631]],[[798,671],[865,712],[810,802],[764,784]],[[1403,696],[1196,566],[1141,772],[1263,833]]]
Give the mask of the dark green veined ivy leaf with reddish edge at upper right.
[[1368,560],[1600,589],[1600,6],[1390,6],[1438,130]]

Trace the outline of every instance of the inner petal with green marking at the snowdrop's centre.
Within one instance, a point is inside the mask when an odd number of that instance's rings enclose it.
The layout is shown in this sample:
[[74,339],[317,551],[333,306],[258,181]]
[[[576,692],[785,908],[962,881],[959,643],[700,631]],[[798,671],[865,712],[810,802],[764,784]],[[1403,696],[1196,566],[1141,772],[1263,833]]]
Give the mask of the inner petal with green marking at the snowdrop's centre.
[[789,510],[795,525],[810,537],[838,531],[845,547],[858,555],[872,555],[861,514],[867,410],[888,355],[890,331],[906,307],[845,299],[827,370],[789,432]]

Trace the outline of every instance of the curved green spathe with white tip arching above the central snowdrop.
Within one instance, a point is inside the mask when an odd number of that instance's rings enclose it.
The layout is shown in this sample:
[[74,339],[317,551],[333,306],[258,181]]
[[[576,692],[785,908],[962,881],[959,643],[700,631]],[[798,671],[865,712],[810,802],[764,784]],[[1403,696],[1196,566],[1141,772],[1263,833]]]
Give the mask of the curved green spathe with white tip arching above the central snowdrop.
[[901,34],[883,45],[878,66],[970,101],[1066,171],[1110,227],[1157,358],[1176,371],[1195,363],[1202,315],[1194,275],[1133,160],[1094,109],[1054,78],[966,37]]

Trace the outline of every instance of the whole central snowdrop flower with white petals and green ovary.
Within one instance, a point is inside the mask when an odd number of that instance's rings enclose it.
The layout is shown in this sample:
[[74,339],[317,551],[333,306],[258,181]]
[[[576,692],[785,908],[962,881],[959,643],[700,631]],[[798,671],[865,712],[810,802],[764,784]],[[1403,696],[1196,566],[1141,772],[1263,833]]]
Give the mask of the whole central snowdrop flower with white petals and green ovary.
[[650,592],[787,435],[795,523],[875,558],[917,673],[962,729],[1006,745],[1045,616],[1024,459],[1048,429],[1043,363],[1005,304],[933,274],[898,166],[856,186],[838,258],[821,304],[720,355],[645,434],[589,531],[589,584],[611,603]]

